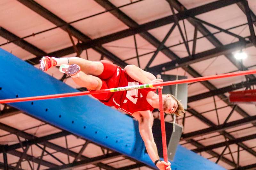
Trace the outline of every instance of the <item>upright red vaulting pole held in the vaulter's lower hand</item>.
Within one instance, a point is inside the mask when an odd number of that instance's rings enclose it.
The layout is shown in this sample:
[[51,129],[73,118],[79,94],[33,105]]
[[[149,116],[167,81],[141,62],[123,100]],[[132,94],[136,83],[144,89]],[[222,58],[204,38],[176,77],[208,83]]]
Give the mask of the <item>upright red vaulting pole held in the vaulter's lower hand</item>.
[[[161,78],[161,75],[158,74],[156,77]],[[166,144],[166,135],[165,135],[165,124],[164,124],[164,106],[163,106],[162,89],[158,89],[158,97],[159,97],[159,110],[160,110],[160,120],[161,120],[162,143],[163,143],[163,156],[164,156],[164,161],[168,162],[167,144]],[[167,166],[165,166],[165,168],[166,167]]]

